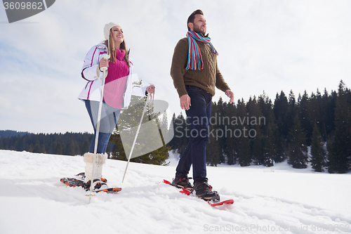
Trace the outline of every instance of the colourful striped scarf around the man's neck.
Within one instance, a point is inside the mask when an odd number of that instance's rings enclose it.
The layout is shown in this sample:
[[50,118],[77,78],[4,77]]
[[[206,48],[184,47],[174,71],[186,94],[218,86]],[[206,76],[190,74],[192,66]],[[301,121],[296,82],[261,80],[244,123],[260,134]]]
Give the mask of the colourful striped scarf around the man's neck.
[[[204,43],[208,43],[211,46],[211,50],[213,53],[218,53],[216,49],[211,44],[211,38],[209,37],[201,37],[200,34],[194,31],[187,32],[187,40],[189,41],[189,51],[187,55],[187,70],[203,70],[204,69],[204,61],[202,60],[201,52],[199,47],[197,46],[197,41],[201,41]],[[195,64],[196,63],[196,64]]]

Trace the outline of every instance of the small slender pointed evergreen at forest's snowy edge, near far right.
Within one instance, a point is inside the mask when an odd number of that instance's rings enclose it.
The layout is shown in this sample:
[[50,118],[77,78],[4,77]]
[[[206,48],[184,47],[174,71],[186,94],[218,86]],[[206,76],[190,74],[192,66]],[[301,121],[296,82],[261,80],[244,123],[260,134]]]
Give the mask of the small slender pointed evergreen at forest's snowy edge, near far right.
[[314,171],[322,172],[325,164],[325,153],[323,150],[322,137],[317,123],[314,124],[311,145],[311,165]]

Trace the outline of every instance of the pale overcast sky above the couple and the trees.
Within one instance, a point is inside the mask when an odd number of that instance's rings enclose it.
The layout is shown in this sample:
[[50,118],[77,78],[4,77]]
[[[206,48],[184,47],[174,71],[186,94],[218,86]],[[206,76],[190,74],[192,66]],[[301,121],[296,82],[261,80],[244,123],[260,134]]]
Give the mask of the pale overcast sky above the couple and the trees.
[[[9,24],[0,6],[0,129],[92,132],[77,99],[86,84],[83,60],[103,39],[107,22],[123,30],[135,72],[155,84],[156,99],[178,115],[169,74],[173,49],[200,8],[219,53],[220,72],[234,100],[305,90],[329,93],[340,79],[351,86],[351,1],[324,0],[58,0],[37,15]],[[227,101],[222,91],[216,89]]]

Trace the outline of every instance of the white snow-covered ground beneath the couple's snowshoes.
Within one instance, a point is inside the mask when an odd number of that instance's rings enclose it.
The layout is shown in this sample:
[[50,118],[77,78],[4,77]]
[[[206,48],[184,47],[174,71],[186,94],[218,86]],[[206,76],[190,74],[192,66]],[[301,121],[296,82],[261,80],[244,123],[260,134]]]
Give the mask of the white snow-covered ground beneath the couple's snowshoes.
[[210,207],[160,183],[171,181],[176,158],[161,167],[107,160],[103,176],[118,194],[86,191],[60,178],[84,171],[81,156],[0,150],[0,233],[350,233],[351,174],[274,167],[207,167],[222,200]]

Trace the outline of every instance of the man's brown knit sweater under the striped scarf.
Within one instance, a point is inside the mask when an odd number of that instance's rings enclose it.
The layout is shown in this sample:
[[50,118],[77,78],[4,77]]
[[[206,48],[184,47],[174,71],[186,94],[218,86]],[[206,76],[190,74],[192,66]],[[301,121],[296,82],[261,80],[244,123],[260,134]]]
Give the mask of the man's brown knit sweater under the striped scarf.
[[180,39],[176,48],[174,48],[171,77],[173,84],[178,91],[179,97],[187,94],[185,85],[189,84],[204,89],[212,96],[215,95],[215,86],[226,91],[230,89],[217,65],[217,56],[211,51],[211,46],[207,43],[196,41],[199,46],[202,60],[204,61],[203,70],[186,70],[187,66],[187,53],[189,42],[187,38]]

